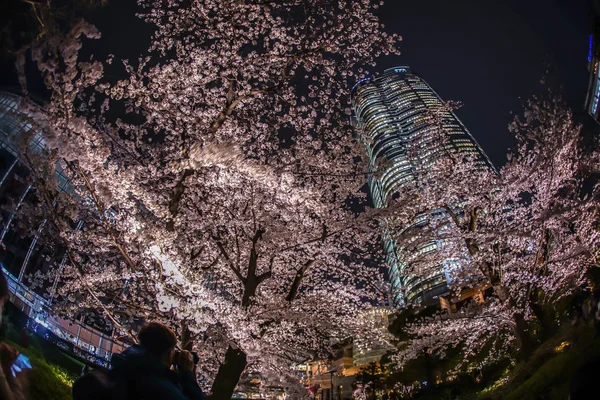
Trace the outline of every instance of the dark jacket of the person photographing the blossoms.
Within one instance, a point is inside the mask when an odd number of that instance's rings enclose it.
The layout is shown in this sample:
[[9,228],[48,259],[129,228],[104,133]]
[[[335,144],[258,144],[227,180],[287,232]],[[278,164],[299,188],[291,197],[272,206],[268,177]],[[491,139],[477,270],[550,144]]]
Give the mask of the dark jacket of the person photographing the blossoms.
[[170,370],[143,346],[115,354],[111,364],[112,373],[127,382],[128,400],[204,400],[193,372]]

